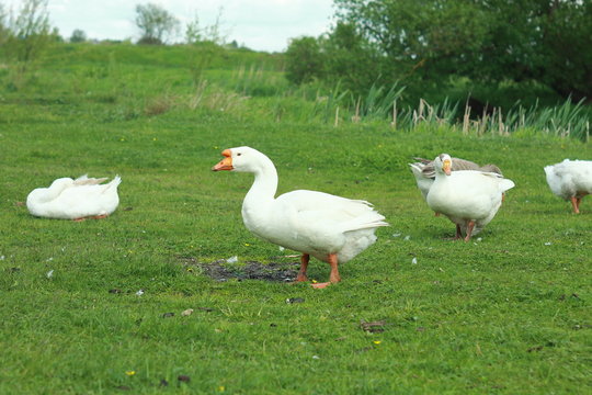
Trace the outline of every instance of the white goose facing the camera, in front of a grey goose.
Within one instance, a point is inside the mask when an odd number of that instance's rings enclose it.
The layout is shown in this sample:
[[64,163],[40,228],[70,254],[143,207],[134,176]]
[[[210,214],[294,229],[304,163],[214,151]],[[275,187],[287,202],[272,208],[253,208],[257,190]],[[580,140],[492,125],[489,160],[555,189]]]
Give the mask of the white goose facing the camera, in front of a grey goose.
[[502,195],[514,182],[498,173],[475,170],[451,171],[452,158],[442,154],[434,159],[435,181],[428,193],[428,205],[456,224],[455,239],[465,241],[479,233],[493,217]]

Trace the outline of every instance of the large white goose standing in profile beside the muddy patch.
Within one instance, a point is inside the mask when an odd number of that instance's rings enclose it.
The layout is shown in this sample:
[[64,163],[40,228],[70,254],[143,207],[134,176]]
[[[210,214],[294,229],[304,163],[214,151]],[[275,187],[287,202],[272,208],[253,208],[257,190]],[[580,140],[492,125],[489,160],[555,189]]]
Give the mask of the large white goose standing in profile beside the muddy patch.
[[326,287],[341,281],[338,263],[344,263],[376,241],[374,232],[388,226],[368,202],[316,191],[293,191],[275,198],[277,172],[273,162],[250,147],[225,149],[212,170],[254,173],[242,203],[244,226],[260,238],[303,252],[297,281],[307,281],[309,256],[331,266]]

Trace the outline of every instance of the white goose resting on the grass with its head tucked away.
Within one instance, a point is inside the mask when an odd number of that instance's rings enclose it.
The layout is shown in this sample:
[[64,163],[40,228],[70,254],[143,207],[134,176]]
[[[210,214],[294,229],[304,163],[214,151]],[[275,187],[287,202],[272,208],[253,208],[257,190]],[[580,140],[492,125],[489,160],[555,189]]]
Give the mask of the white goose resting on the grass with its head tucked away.
[[82,221],[88,217],[104,218],[117,208],[119,196],[117,176],[101,184],[106,178],[88,178],[86,174],[72,180],[59,178],[49,188],[37,188],[26,196],[26,207],[35,216]]

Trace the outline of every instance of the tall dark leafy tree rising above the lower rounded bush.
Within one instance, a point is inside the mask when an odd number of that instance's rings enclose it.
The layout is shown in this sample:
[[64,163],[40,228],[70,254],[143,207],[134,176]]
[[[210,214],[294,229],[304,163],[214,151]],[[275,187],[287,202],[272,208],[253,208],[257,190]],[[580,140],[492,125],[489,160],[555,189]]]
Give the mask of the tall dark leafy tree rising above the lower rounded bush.
[[335,0],[406,83],[536,81],[592,98],[590,0]]

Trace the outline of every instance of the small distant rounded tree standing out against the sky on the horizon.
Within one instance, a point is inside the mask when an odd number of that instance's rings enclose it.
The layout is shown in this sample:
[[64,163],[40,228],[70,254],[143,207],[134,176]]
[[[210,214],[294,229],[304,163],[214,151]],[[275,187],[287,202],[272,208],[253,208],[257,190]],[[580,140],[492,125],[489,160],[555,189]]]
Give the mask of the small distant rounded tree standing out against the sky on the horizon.
[[141,31],[139,44],[163,44],[179,29],[179,20],[153,3],[136,5],[136,25]]

